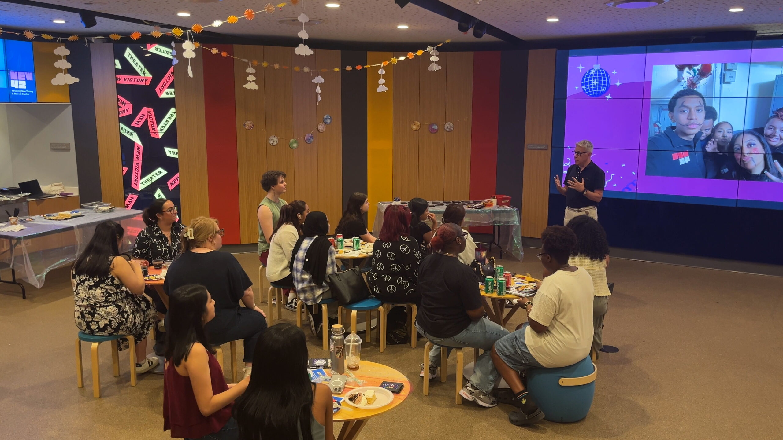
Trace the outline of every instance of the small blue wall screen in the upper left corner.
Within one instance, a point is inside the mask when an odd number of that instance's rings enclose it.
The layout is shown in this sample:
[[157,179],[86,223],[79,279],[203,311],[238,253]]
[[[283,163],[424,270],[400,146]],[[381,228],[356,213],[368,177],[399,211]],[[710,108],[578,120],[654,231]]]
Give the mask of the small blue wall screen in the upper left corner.
[[0,103],[35,103],[33,43],[0,39]]

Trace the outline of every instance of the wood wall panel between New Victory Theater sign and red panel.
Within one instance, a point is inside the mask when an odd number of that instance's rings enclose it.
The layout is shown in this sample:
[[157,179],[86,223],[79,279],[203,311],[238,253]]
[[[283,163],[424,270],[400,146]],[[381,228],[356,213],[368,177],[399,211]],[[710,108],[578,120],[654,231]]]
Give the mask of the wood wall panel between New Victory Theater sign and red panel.
[[[182,53],[182,45],[177,45]],[[207,132],[204,117],[203,57],[211,56],[201,50],[190,59],[193,78],[188,78],[188,63],[174,66],[174,88],[177,106],[177,145],[179,149],[179,204],[183,222],[202,215],[209,216],[207,192]],[[114,64],[114,60],[112,61]],[[103,171],[103,166],[101,167]]]

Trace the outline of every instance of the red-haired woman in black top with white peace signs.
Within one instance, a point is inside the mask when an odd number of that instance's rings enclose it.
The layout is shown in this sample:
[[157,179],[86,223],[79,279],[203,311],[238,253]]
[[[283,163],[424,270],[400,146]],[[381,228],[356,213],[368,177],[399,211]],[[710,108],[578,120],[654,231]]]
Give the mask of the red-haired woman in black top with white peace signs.
[[387,207],[381,233],[373,243],[372,268],[367,274],[375,298],[418,305],[420,263],[419,243],[410,236],[410,210],[402,205]]

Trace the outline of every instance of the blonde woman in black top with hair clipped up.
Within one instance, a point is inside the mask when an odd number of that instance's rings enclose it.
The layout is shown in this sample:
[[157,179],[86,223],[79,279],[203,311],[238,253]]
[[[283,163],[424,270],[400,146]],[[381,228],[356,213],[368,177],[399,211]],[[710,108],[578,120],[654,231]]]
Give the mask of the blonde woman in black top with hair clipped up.
[[[214,218],[194,218],[182,234],[182,254],[168,268],[164,290],[201,284],[215,300],[215,318],[204,325],[212,344],[244,340],[245,375],[250,375],[258,337],[266,330],[266,316],[255,305],[253,282],[239,261],[222,247],[223,229]],[[240,307],[242,301],[244,307]]]

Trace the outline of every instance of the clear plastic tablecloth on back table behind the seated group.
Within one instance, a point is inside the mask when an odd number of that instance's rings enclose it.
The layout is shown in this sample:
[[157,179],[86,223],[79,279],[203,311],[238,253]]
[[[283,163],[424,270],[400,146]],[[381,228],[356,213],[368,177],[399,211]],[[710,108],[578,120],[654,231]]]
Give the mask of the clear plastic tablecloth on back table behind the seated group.
[[[378,202],[378,211],[373,223],[373,236],[381,233],[381,226],[384,224],[384,211],[391,202]],[[430,207],[430,212],[441,222],[443,211],[446,211],[446,205],[435,205]],[[513,206],[495,206],[483,209],[465,208],[465,220],[463,227],[468,226],[499,226],[498,232],[500,238],[498,243],[514,257],[522,260],[524,251],[522,251],[521,228],[519,227],[519,210]]]

